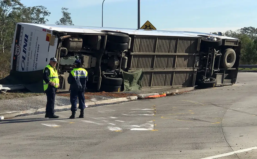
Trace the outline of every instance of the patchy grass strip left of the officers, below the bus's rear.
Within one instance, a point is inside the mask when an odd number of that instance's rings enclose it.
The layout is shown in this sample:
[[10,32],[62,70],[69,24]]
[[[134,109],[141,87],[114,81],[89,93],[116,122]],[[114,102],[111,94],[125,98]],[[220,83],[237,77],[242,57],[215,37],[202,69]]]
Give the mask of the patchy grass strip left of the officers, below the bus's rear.
[[33,96],[39,96],[39,95],[44,95],[44,94],[43,93],[21,92],[21,91],[8,92],[6,94],[0,92],[0,100],[33,97]]

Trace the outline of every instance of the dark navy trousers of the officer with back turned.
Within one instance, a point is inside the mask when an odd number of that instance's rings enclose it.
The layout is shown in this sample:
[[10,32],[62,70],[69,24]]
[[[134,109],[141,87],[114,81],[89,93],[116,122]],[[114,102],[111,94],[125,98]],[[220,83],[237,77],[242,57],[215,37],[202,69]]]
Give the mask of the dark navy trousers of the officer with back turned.
[[71,91],[70,92],[70,102],[71,102],[71,111],[77,111],[77,98],[79,98],[79,109],[85,109],[85,96],[84,92]]

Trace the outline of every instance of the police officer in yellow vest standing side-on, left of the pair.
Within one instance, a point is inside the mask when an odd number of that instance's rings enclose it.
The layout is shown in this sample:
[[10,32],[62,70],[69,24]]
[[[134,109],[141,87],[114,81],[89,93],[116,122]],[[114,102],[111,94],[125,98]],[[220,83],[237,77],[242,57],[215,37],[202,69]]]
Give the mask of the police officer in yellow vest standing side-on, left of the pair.
[[59,78],[55,69],[57,59],[50,58],[49,64],[43,70],[44,91],[47,95],[47,106],[45,118],[59,118],[54,114],[55,93],[59,87]]

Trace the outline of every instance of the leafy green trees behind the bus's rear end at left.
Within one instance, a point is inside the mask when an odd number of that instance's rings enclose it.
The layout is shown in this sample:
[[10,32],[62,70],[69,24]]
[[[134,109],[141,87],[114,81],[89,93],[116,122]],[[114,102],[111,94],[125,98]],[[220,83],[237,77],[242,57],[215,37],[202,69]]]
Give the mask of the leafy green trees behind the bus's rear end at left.
[[[63,17],[60,22],[72,24],[67,8],[62,8]],[[44,6],[24,6],[20,0],[0,0],[0,79],[9,75],[11,46],[16,23],[46,24],[50,12]]]

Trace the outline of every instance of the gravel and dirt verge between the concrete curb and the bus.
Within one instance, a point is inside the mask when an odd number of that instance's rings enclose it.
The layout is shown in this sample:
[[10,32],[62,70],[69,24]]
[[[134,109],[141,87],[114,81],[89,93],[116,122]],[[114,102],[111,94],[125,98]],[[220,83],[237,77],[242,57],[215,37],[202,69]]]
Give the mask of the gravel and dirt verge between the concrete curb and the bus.
[[[86,92],[85,102],[95,102],[106,99],[122,98],[135,96],[138,94],[156,93],[163,91],[171,91],[177,88],[164,89],[144,89],[140,91],[124,91],[124,92]],[[11,92],[0,94],[0,113],[10,111],[24,111],[29,109],[45,108],[47,97],[45,94],[36,94],[28,92]],[[70,105],[70,94],[56,94],[55,106]]]

